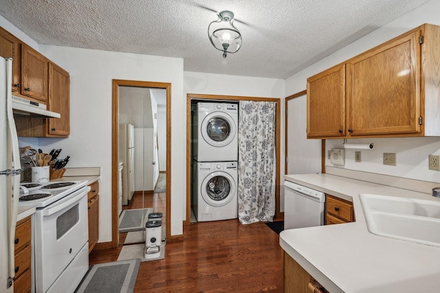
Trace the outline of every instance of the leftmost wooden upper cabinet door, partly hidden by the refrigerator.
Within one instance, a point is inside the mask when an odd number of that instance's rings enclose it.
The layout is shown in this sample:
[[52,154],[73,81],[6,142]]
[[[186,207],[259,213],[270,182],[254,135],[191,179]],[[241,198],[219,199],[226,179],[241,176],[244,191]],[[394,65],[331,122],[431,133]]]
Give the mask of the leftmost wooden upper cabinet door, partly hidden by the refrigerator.
[[0,56],[12,58],[12,91],[20,87],[20,40],[0,28]]

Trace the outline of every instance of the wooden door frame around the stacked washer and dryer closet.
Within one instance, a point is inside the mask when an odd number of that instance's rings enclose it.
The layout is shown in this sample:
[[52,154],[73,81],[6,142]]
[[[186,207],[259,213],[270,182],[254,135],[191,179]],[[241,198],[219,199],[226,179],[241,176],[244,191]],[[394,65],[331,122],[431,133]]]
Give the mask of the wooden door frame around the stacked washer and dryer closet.
[[275,219],[283,219],[284,213],[280,208],[280,157],[281,157],[281,99],[257,98],[247,96],[217,96],[206,94],[186,94],[186,219],[184,226],[191,224],[191,100],[254,100],[256,102],[276,102],[275,117],[275,151],[276,151],[276,179],[275,179]]

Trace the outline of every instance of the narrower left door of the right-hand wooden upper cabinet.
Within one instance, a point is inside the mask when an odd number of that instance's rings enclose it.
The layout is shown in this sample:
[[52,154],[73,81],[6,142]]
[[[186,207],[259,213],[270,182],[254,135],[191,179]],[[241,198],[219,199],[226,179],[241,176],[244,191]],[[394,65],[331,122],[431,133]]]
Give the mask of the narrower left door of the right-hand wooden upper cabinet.
[[345,135],[345,65],[307,78],[307,138]]

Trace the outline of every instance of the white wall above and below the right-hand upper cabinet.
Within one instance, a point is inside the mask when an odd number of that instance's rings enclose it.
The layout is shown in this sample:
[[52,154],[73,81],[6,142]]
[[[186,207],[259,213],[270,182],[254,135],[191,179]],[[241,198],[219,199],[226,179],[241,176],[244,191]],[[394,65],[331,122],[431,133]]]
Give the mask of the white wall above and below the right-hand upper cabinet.
[[[327,56],[314,65],[307,67],[298,74],[286,79],[286,96],[306,89],[306,80],[318,72],[356,56],[366,50],[380,45],[393,37],[398,36],[423,23],[440,25],[440,1],[433,0],[419,8],[412,10],[382,28],[371,32],[358,41],[342,48],[338,52]],[[305,109],[303,109],[305,111]],[[417,180],[440,182],[440,172],[428,170],[428,155],[440,154],[440,138],[377,138],[374,140],[356,140],[349,142],[368,141],[375,144],[371,151],[362,150],[362,162],[354,162],[354,151],[346,150],[346,164],[343,167],[350,170],[367,171],[385,175],[395,175]],[[342,140],[327,140],[326,149],[342,146]],[[327,153],[327,151],[326,151]],[[382,153],[397,153],[397,166],[382,165]],[[326,161],[327,166],[333,166]]]

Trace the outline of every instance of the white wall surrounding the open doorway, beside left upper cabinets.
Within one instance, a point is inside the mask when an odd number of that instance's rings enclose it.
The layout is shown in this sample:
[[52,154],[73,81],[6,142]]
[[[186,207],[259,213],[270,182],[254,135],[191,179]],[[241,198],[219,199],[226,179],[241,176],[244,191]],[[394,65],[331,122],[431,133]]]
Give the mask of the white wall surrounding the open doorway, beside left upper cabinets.
[[[100,242],[111,241],[111,80],[171,83],[171,235],[183,233],[185,178],[183,60],[140,54],[40,45],[40,52],[70,74],[70,137],[40,139],[71,155],[71,167],[100,166]],[[48,148],[50,148],[48,147]]]

